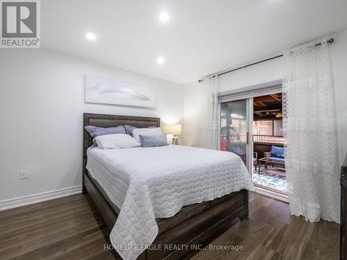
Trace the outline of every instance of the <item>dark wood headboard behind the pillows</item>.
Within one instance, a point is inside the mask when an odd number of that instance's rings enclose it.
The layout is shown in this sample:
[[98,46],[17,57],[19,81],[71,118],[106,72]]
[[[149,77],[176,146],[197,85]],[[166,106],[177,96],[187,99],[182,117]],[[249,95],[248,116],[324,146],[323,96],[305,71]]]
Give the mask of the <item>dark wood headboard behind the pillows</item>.
[[93,140],[84,129],[87,125],[110,128],[119,125],[133,125],[137,128],[148,128],[149,126],[160,127],[160,119],[156,117],[142,116],[117,116],[113,114],[83,114],[83,173],[87,164],[87,149],[92,146]]

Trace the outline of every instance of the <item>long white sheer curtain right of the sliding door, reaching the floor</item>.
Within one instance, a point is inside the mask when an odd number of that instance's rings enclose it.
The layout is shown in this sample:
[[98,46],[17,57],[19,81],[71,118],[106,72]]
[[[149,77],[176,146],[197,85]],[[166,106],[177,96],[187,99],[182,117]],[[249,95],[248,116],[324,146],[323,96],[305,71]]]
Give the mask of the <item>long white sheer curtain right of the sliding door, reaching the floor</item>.
[[337,122],[327,40],[285,51],[283,128],[291,214],[339,223]]

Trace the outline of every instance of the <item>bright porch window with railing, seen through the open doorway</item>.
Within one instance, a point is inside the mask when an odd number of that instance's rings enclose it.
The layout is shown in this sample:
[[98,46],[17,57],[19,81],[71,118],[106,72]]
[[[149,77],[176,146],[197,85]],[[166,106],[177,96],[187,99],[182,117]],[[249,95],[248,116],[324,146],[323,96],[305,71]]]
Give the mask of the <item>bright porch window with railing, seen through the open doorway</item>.
[[253,121],[253,141],[284,144],[282,120]]

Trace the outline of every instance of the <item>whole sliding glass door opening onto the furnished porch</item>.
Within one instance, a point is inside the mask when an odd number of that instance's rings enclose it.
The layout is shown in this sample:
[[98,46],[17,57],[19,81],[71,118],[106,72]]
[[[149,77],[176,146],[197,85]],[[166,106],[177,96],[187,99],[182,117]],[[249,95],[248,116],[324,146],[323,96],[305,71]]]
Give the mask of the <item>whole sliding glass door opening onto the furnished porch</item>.
[[280,82],[268,87],[247,87],[242,92],[224,92],[219,94],[218,102],[219,148],[239,155],[257,191],[287,201],[285,158],[276,162],[270,159],[271,151],[283,149],[286,143]]

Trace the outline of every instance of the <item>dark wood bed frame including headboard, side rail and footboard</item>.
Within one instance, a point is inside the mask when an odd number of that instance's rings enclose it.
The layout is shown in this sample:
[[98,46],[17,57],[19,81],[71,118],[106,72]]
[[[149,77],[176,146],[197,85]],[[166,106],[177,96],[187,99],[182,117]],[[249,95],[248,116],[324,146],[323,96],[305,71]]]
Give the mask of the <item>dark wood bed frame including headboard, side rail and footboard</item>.
[[[139,116],[117,116],[109,114],[84,114],[83,126],[114,127],[134,125],[137,128],[160,127],[160,119]],[[110,206],[98,187],[87,175],[87,148],[92,138],[83,130],[83,193],[89,193],[106,225],[112,230],[119,209]],[[153,241],[153,249],[145,250],[137,259],[189,259],[231,227],[236,218],[248,216],[248,191],[232,192],[221,198],[183,207],[171,218],[157,218],[159,232]],[[165,245],[187,245],[182,248],[168,248]],[[158,250],[158,248],[160,248]]]

